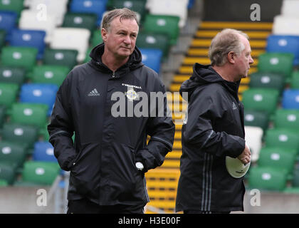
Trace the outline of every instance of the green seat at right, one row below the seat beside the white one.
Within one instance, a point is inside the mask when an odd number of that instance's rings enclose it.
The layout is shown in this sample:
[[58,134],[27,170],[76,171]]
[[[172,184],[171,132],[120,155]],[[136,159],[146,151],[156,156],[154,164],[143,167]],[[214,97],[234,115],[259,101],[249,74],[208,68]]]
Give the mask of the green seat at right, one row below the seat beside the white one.
[[292,175],[296,153],[281,147],[263,147],[258,158],[258,167],[273,167]]

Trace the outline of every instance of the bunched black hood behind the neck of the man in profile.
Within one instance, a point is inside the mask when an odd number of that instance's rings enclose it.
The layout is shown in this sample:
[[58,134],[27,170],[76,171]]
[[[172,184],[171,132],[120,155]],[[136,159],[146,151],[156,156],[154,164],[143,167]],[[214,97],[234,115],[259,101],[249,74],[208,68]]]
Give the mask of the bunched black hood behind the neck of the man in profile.
[[210,83],[220,83],[238,100],[238,86],[240,85],[240,81],[226,81],[214,70],[214,68],[211,67],[211,65],[201,65],[199,63],[195,63],[193,66],[192,76],[182,83],[179,93],[182,96],[183,92],[187,92],[188,100],[190,100],[192,93],[197,87]]

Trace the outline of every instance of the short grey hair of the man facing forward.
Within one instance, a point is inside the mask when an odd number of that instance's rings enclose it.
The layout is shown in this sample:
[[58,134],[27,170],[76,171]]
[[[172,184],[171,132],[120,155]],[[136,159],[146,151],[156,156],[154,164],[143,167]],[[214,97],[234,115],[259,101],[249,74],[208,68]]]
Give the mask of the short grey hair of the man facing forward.
[[122,19],[135,20],[139,26],[139,21],[137,19],[136,12],[127,8],[122,8],[122,9],[113,9],[112,11],[107,11],[103,15],[101,29],[105,28],[106,31],[110,31],[111,22],[113,21],[113,19],[119,16],[120,16],[120,21],[122,21]]

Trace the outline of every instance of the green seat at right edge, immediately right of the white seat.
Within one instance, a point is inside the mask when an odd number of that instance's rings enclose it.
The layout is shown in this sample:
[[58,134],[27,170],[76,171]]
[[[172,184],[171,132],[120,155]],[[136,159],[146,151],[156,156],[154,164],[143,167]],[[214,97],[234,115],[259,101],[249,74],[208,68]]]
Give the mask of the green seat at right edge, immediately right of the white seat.
[[293,130],[269,129],[266,132],[265,143],[267,147],[281,147],[299,151],[299,135]]

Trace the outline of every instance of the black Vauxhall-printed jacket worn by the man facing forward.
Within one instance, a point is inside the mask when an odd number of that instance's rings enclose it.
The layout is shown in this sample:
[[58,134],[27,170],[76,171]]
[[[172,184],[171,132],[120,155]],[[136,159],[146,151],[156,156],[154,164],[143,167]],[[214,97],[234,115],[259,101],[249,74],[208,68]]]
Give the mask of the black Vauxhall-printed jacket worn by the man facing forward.
[[[115,118],[112,105],[119,100],[113,100],[112,94],[126,94],[133,88],[147,93],[150,100],[150,92],[165,92],[164,85],[141,62],[138,48],[114,73],[102,63],[103,51],[103,43],[93,48],[92,59],[70,71],[63,81],[48,125],[49,141],[61,168],[70,170],[68,199],[144,205],[149,201],[144,173],[162,165],[172,150],[174,123],[166,115],[166,98],[164,107],[159,106],[164,108],[164,117]],[[125,96],[126,113],[127,104],[135,107],[138,102]],[[151,137],[148,144],[147,135]],[[143,171],[135,167],[137,161],[145,166]]]

